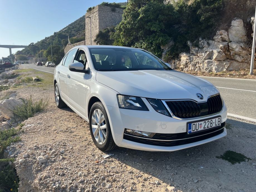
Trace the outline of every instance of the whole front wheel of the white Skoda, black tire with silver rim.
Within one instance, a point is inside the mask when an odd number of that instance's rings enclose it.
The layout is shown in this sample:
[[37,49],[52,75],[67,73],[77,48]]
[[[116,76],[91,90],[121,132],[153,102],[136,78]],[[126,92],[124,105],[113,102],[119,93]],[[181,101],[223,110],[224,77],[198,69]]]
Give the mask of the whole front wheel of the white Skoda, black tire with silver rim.
[[[99,114],[100,112],[103,116],[101,116],[102,121],[95,118],[95,115],[101,115]],[[96,102],[91,107],[89,114],[89,127],[92,141],[98,149],[100,149],[101,151],[110,151],[116,148],[116,144],[114,142],[109,125],[108,115],[106,113],[104,105],[101,102]],[[94,134],[96,136],[94,136]]]

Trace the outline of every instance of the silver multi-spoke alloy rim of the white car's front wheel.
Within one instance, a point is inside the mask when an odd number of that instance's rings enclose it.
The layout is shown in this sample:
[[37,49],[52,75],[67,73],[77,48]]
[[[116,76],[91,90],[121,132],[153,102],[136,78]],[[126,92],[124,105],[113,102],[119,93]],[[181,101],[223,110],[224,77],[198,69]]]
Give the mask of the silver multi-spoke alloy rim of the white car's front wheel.
[[99,144],[103,144],[107,138],[107,125],[106,120],[100,109],[95,109],[92,113],[92,133]]

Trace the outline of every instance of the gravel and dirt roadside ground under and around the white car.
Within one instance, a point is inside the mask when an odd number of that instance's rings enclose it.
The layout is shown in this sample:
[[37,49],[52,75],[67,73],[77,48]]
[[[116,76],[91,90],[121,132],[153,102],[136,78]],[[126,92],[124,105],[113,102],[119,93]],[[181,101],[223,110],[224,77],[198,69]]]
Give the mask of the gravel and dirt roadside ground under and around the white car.
[[[46,111],[25,120],[16,157],[19,191],[255,191],[256,125],[230,118],[228,135],[175,152],[98,150],[89,125],[70,108],[58,109],[53,86],[24,87],[18,96],[49,98]],[[231,150],[251,160],[231,164],[216,156]]]

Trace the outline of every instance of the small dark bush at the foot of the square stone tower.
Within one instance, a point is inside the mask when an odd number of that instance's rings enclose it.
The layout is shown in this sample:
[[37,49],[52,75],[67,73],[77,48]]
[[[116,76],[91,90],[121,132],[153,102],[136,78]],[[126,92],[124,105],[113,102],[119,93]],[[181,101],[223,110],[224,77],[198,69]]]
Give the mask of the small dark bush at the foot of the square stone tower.
[[96,35],[94,42],[97,45],[113,45],[113,39],[110,38],[111,34],[115,32],[114,27],[106,28]]

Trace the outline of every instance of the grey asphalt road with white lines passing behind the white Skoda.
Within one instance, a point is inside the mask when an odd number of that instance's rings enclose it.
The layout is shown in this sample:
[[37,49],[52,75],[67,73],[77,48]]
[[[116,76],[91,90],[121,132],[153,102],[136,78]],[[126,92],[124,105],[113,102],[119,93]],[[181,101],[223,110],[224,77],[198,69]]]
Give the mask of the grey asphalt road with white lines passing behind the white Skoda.
[[[22,64],[36,70],[53,73],[54,67],[36,66],[35,64]],[[256,80],[202,77],[213,83],[224,99],[229,115],[252,118],[256,122]],[[245,118],[246,119],[246,118]]]

